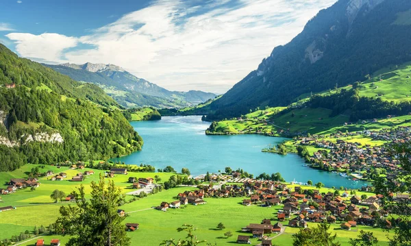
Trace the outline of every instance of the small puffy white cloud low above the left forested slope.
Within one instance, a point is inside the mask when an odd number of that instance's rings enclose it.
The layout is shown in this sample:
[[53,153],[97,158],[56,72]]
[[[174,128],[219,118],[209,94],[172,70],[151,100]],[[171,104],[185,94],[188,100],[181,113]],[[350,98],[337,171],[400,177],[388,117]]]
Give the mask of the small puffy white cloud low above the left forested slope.
[[23,34],[5,35],[16,42],[16,51],[26,58],[46,62],[64,62],[63,51],[77,45],[77,38],[61,34]]

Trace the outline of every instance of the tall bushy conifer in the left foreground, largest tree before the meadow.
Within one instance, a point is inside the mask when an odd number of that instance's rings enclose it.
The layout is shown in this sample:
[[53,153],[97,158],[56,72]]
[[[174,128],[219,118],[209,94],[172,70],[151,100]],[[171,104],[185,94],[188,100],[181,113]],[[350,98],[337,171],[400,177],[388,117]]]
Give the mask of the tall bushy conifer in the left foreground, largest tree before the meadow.
[[67,245],[114,246],[129,245],[130,239],[124,230],[123,221],[117,213],[123,204],[124,195],[113,180],[105,184],[103,175],[99,182],[91,182],[91,198],[86,199],[84,186],[73,192],[76,206],[61,206],[57,223],[64,233],[71,235]]

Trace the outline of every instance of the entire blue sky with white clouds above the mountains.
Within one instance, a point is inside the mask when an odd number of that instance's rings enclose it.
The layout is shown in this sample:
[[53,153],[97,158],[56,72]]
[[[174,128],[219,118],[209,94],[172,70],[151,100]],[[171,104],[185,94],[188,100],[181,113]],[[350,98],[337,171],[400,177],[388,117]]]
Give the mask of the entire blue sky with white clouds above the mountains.
[[36,62],[116,64],[225,93],[336,0],[0,0],[0,42]]

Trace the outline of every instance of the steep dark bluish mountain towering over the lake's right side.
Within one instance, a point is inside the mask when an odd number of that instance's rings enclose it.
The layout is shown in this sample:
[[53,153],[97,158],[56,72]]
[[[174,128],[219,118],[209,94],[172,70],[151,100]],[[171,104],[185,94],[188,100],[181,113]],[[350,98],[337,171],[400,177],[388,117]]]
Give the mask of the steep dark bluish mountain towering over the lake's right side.
[[407,62],[410,20],[408,0],[340,0],[214,101],[208,119],[287,106],[303,93],[352,84],[378,69]]

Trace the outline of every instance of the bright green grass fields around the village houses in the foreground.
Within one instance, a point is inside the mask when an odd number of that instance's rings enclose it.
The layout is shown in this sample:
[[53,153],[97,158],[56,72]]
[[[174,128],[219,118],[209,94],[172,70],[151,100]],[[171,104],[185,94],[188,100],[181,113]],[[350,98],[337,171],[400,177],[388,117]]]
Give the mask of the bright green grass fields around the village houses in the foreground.
[[[35,165],[28,164],[22,169],[8,173],[0,173],[0,180],[3,184],[5,181],[10,180],[12,177],[25,177],[27,172]],[[66,172],[70,178],[75,175],[77,170],[70,170],[66,167],[57,169],[56,167],[45,166],[42,171],[54,171],[54,172]],[[87,170],[87,169],[84,169]],[[82,170],[82,171],[84,171]],[[90,184],[92,180],[98,179],[99,173],[103,171],[95,170],[95,175],[88,176],[83,184],[86,185],[86,192],[90,193],[90,188],[87,184]],[[167,180],[171,173],[129,173],[128,175],[116,175],[113,180],[117,186],[123,189],[123,193],[127,193],[129,183],[127,179],[130,176],[136,177],[153,177],[154,175],[160,175],[162,180]],[[45,177],[40,180],[40,187],[34,191],[29,189],[18,190],[11,195],[3,195],[3,202],[1,206],[16,206],[15,210],[9,210],[0,212],[0,238],[10,238],[13,235],[20,234],[25,230],[32,231],[34,225],[49,225],[55,222],[55,219],[59,216],[60,206],[71,204],[70,202],[58,202],[54,203],[49,195],[54,189],[64,190],[67,194],[71,190],[78,186],[78,183],[69,181],[51,181]],[[293,188],[294,185],[289,185]],[[314,188],[314,187],[304,187]],[[127,218],[125,222],[139,223],[140,229],[136,232],[127,232],[132,238],[132,245],[159,245],[160,242],[167,238],[184,238],[186,234],[184,232],[177,232],[177,227],[183,224],[195,225],[199,230],[196,231],[199,239],[206,239],[210,243],[216,243],[217,245],[232,245],[236,241],[236,237],[239,234],[247,235],[247,233],[241,232],[241,228],[245,227],[249,223],[260,223],[262,219],[273,219],[272,223],[276,221],[277,210],[281,206],[273,207],[260,207],[260,206],[242,206],[242,197],[233,198],[205,198],[207,204],[199,206],[184,206],[179,209],[169,209],[167,212],[154,210],[153,206],[159,206],[162,201],[174,201],[175,196],[178,193],[184,192],[184,190],[194,190],[192,187],[179,187],[172,188],[170,190],[164,190],[161,193],[155,195],[149,195],[138,201],[133,201],[129,204],[121,206],[121,209],[127,212]],[[322,188],[321,192],[334,191],[329,188]],[[357,195],[364,193],[358,192]],[[371,193],[366,193],[372,195]],[[127,196],[129,198],[131,196]],[[225,225],[225,230],[217,230],[216,225],[222,222]],[[287,225],[288,221],[284,221],[284,225]],[[314,223],[309,223],[309,226],[316,226]],[[297,232],[297,228],[286,227],[284,234],[279,235],[273,239],[273,243],[277,245],[291,245],[292,234]],[[338,234],[338,241],[342,245],[348,245],[349,238],[356,237],[360,230],[367,230],[374,232],[378,237],[379,245],[388,245],[386,243],[386,233],[381,230],[371,227],[359,226],[351,231],[343,231],[339,229],[338,223],[332,225],[332,231]],[[224,232],[231,231],[234,236],[225,238]],[[271,235],[275,236],[275,234]],[[51,238],[60,238],[62,245],[69,240],[67,236],[40,236],[45,238],[46,242],[49,242]],[[22,245],[34,245],[36,239],[23,243]],[[259,242],[256,239],[251,240],[252,245],[257,245]]]

